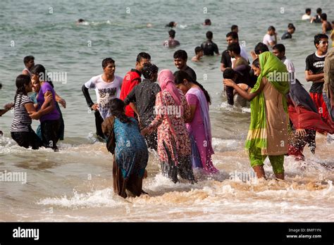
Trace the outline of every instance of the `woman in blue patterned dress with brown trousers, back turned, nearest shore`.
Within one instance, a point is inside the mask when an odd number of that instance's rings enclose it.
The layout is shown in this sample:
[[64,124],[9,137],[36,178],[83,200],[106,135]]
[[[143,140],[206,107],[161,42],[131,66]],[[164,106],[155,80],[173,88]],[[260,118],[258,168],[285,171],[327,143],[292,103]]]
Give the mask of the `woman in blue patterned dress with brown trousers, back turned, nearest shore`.
[[102,131],[108,137],[106,148],[113,154],[113,190],[124,198],[146,194],[142,191],[149,159],[145,139],[135,118],[125,115],[125,103],[120,99],[110,103],[111,116],[102,123]]

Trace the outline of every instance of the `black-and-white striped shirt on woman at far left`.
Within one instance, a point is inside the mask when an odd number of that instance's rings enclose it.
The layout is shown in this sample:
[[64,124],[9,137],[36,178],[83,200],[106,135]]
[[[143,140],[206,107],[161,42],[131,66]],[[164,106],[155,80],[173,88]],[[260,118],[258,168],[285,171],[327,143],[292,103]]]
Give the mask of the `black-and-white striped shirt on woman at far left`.
[[18,94],[14,101],[14,118],[11,123],[11,132],[29,132],[32,120],[25,108],[26,103],[32,103],[32,100],[25,94]]

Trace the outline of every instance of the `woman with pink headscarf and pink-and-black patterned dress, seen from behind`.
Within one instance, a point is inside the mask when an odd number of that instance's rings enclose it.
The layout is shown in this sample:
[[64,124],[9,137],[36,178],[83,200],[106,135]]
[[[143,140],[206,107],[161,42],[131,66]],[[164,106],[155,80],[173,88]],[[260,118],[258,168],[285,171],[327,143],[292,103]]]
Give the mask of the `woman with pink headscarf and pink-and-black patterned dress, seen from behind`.
[[158,129],[158,154],[163,175],[174,183],[179,181],[178,175],[193,183],[190,138],[185,127],[190,107],[183,92],[175,87],[171,70],[161,70],[158,80],[161,92],[156,95],[156,117],[142,134]]

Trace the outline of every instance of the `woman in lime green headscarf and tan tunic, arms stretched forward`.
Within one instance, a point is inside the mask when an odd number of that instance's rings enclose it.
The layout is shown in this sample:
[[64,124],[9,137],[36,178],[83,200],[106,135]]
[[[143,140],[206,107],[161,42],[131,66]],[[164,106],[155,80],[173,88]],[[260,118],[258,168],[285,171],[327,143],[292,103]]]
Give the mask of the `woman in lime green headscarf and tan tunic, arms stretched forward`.
[[289,82],[285,65],[270,52],[253,61],[258,76],[253,88],[224,79],[240,96],[251,101],[251,123],[245,148],[258,178],[266,178],[264,160],[269,157],[276,178],[284,180],[284,154],[287,153],[287,102]]

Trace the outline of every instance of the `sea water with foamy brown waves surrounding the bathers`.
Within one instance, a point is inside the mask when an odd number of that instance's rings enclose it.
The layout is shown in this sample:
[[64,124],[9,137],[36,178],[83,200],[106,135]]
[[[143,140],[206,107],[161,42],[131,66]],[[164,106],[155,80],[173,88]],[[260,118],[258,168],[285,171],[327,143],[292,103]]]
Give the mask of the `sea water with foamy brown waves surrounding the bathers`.
[[[223,93],[220,56],[201,63],[188,62],[209,91],[214,165],[217,175],[196,172],[197,184],[173,184],[163,177],[159,161],[150,153],[144,190],[149,196],[122,199],[112,190],[112,156],[94,137],[94,114],[89,113],[81,87],[102,73],[101,61],[112,57],[116,75],[134,68],[140,51],[151,54],[160,69],[175,70],[173,52],[162,43],[166,23],[178,23],[176,39],[190,58],[194,47],[214,32],[220,51],[225,34],[239,26],[247,51],[261,42],[269,25],[280,37],[288,23],[297,30],[284,40],[287,58],[304,80],[305,58],[315,51],[314,34],[320,25],[301,20],[305,8],[318,7],[334,20],[333,1],[9,1],[0,2],[0,105],[13,100],[15,78],[23,57],[35,56],[49,72],[66,74],[54,81],[67,101],[63,109],[66,139],[60,151],[20,148],[10,136],[13,114],[0,118],[0,172],[26,174],[26,183],[0,182],[1,221],[334,221],[334,143],[317,135],[316,154],[305,148],[304,162],[285,158],[285,181],[273,179],[266,160],[267,181],[253,179],[243,144],[250,111],[227,106]],[[88,25],[75,25],[78,18]],[[205,18],[213,23],[201,25]],[[150,23],[151,27],[147,27]],[[95,98],[94,92],[91,93]],[[37,122],[34,122],[34,127]],[[255,218],[256,217],[256,218]]]

